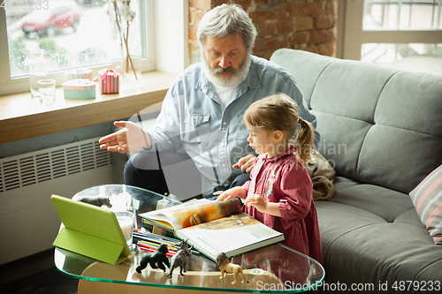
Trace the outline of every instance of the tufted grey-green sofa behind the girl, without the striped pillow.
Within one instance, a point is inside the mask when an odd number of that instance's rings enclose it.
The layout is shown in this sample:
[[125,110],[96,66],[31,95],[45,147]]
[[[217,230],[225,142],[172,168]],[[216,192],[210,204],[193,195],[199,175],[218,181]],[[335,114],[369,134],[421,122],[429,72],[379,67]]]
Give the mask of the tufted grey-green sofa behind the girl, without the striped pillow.
[[317,290],[442,292],[442,245],[408,195],[442,164],[442,76],[293,49],[271,61],[301,87],[336,171],[331,200],[316,201]]

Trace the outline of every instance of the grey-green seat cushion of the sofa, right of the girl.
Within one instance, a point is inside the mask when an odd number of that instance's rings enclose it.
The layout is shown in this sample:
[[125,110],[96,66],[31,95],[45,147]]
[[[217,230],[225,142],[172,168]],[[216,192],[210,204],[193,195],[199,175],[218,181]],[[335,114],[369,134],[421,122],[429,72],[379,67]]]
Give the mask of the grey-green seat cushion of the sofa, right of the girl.
[[434,272],[423,273],[442,261],[442,248],[428,236],[408,194],[335,177],[334,196],[316,202],[316,209],[327,281],[434,280]]

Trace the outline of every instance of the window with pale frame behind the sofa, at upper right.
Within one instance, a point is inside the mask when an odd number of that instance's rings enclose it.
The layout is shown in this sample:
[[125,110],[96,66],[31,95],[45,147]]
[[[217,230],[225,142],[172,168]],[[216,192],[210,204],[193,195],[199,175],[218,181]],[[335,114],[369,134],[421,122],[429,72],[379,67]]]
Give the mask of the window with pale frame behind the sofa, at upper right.
[[442,56],[442,1],[350,0],[344,5],[344,58],[390,63]]

